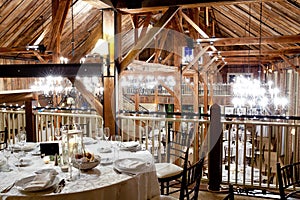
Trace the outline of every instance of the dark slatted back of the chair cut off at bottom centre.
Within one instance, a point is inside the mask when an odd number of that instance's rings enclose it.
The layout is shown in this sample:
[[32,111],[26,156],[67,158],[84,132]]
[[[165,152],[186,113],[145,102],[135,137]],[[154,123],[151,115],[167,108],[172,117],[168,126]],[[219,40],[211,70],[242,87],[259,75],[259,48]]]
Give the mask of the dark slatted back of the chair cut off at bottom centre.
[[180,188],[180,200],[197,200],[202,178],[204,157],[189,166],[188,161],[184,164],[182,182]]

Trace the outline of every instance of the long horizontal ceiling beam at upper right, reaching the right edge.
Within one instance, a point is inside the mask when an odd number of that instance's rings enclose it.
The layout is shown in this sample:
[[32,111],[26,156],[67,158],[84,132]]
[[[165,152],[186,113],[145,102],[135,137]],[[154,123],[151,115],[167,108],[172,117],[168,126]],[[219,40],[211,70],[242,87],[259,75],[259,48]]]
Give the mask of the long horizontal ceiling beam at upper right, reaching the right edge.
[[272,37],[241,37],[241,38],[205,38],[197,39],[200,43],[213,43],[214,46],[259,45],[300,43],[300,35],[285,35]]

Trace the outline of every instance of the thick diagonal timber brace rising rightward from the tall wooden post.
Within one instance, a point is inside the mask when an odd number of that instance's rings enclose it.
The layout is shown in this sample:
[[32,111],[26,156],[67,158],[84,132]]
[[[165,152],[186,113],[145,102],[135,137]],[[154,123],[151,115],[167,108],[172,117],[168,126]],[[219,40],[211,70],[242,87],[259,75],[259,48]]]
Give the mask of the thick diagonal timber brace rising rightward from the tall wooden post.
[[126,69],[126,67],[134,60],[134,58],[152,41],[152,39],[161,32],[161,30],[168,24],[168,22],[177,13],[179,7],[169,8],[160,20],[154,24],[153,28],[141,38],[137,44],[128,52],[125,58],[120,63],[120,73]]

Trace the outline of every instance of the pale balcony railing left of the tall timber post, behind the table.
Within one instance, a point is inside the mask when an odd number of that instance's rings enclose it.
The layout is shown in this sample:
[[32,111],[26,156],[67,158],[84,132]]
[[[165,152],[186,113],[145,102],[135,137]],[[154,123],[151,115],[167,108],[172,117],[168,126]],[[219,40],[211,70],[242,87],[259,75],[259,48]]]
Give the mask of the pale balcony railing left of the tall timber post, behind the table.
[[[34,111],[35,138],[37,142],[54,140],[55,129],[63,125],[79,124],[86,136],[93,136],[103,126],[103,118],[92,112],[45,112]],[[8,129],[8,136],[14,142],[20,130],[25,129],[25,111],[20,109],[0,111],[0,129]]]

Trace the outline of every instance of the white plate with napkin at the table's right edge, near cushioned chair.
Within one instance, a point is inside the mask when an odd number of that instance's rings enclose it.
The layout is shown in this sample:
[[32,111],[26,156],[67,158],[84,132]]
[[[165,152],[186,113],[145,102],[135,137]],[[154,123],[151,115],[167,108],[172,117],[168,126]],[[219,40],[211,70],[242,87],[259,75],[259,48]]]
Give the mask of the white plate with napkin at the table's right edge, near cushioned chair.
[[142,172],[148,167],[148,163],[139,158],[123,158],[114,162],[114,167],[124,172]]

